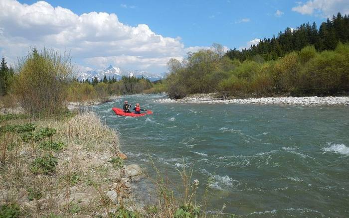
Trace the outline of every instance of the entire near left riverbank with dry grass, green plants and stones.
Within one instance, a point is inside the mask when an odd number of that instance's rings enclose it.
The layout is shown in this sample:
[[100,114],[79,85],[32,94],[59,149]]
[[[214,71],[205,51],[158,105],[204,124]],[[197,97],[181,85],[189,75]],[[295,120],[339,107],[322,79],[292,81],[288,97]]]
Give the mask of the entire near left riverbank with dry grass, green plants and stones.
[[108,217],[143,210],[132,192],[142,170],[124,165],[117,133],[93,112],[58,120],[2,115],[0,141],[0,215]]

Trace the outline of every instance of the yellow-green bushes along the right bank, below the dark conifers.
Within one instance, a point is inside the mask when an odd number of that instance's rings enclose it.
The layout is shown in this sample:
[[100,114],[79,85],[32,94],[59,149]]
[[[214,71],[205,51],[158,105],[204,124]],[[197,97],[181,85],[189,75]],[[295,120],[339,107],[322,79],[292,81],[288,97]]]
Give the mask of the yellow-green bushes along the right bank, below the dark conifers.
[[[172,67],[177,70],[167,78],[170,98],[217,91],[236,97],[349,92],[349,44],[339,43],[334,51],[323,52],[306,46],[300,52],[290,52],[276,61],[264,63],[199,57],[208,54],[210,52],[191,54],[180,68]],[[202,66],[211,70],[205,71]]]

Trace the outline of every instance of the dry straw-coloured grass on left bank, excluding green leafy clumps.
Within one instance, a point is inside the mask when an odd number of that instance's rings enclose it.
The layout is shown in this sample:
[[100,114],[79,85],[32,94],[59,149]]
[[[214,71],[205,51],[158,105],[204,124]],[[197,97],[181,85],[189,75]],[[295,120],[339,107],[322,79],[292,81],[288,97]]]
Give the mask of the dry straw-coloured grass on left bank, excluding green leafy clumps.
[[[86,185],[86,180],[90,179],[105,190],[115,179],[113,176],[118,175],[108,162],[108,158],[119,150],[116,132],[101,123],[91,111],[60,120],[7,120],[1,122],[0,126],[28,122],[37,126],[34,132],[49,127],[56,129],[56,133],[39,141],[24,142],[21,133],[0,131],[0,204],[15,202],[20,206],[20,216],[23,217],[41,217],[50,213],[63,216],[96,215],[103,205],[96,189]],[[43,140],[61,141],[64,149],[40,149]],[[33,161],[45,155],[57,159],[55,171],[33,173]],[[99,172],[89,172],[90,167],[98,164],[109,168],[110,175],[100,178]],[[86,198],[89,198],[88,201]]]

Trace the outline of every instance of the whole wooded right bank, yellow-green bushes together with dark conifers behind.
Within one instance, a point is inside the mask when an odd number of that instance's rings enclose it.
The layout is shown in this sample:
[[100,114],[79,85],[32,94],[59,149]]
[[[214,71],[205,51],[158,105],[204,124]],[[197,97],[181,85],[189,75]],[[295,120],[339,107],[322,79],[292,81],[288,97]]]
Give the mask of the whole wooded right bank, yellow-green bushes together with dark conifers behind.
[[348,95],[348,21],[339,13],[319,30],[315,23],[302,24],[250,49],[224,54],[214,44],[182,61],[171,59],[166,91],[174,99],[212,92],[234,97]]

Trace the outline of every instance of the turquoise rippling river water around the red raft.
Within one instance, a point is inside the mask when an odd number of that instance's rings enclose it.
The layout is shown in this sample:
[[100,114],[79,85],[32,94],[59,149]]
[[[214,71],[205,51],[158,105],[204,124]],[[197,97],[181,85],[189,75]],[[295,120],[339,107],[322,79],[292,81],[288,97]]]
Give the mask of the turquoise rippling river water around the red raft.
[[[93,109],[120,134],[121,150],[174,183],[193,168],[210,208],[243,217],[349,217],[349,107],[161,104],[124,96]],[[127,99],[154,111],[116,116]],[[147,182],[145,182],[147,183]]]

